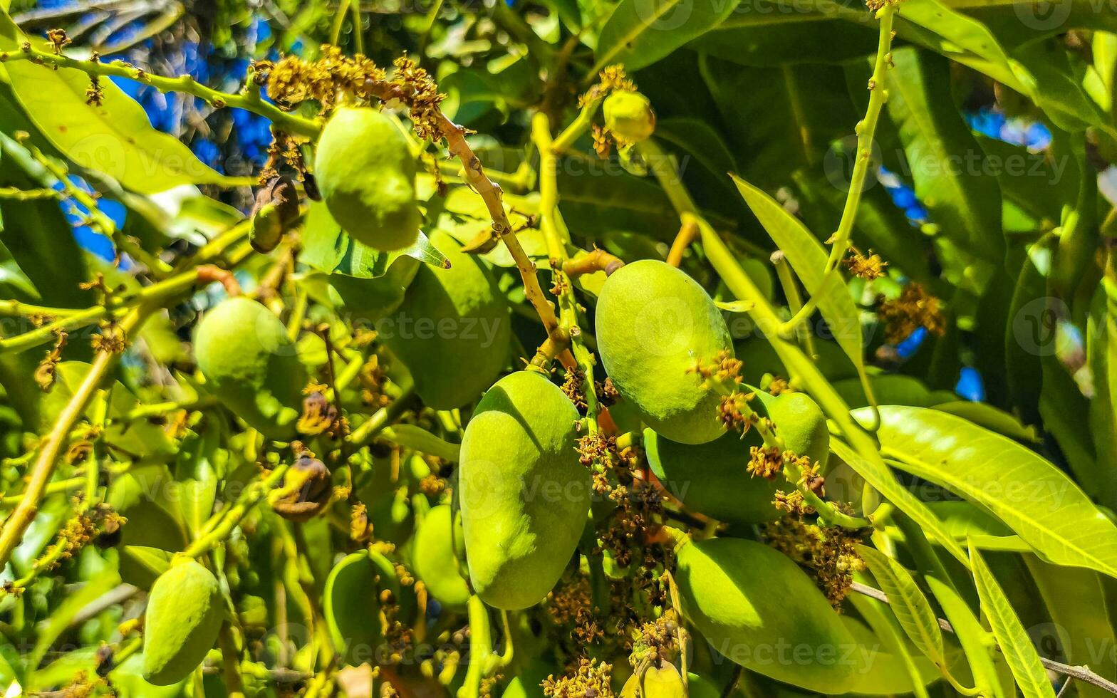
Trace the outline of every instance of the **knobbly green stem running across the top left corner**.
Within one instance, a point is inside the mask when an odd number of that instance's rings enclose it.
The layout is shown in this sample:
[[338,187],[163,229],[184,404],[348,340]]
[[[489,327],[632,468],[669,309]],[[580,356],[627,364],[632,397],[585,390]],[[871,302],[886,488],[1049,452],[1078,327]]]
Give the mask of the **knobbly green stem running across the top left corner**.
[[[181,77],[152,75],[123,60],[114,60],[112,63],[78,60],[68,56],[56,56],[50,51],[41,51],[36,48],[16,52],[0,51],[0,64],[12,60],[30,60],[31,63],[56,68],[73,68],[89,76],[123,77],[143,83],[144,85],[151,85],[162,93],[179,92],[193,95],[201,97],[214,108],[237,107],[258,114],[275,124],[277,130],[292,135],[315,138],[318,132],[322,131],[319,122],[288,114],[276,105],[265,102],[260,97],[259,90],[248,89],[247,87],[239,94],[223,93],[202,85],[189,75]],[[251,76],[249,76],[249,83],[251,83]]]

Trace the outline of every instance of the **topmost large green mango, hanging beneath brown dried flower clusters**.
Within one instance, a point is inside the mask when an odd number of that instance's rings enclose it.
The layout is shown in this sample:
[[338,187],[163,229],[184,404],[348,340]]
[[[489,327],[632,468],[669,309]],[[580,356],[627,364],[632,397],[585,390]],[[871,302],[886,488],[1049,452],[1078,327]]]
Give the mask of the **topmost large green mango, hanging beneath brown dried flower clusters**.
[[336,109],[314,163],[326,208],[353,239],[384,251],[414,243],[422,223],[416,159],[390,116],[367,107]]

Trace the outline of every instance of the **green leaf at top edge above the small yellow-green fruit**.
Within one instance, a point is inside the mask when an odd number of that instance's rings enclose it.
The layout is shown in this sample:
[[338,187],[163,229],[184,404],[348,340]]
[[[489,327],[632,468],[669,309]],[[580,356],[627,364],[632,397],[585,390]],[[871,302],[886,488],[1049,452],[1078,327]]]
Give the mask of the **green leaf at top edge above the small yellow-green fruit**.
[[638,70],[709,31],[739,0],[621,0],[598,35],[591,73],[621,63]]

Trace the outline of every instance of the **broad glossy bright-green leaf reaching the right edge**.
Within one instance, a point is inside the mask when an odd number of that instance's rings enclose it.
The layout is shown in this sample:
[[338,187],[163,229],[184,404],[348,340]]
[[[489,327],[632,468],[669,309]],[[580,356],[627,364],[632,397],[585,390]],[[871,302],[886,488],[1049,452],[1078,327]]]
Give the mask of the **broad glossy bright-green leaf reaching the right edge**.
[[1044,560],[1117,576],[1117,526],[1033,451],[960,417],[901,405],[880,408],[877,437],[886,458],[982,506]]

